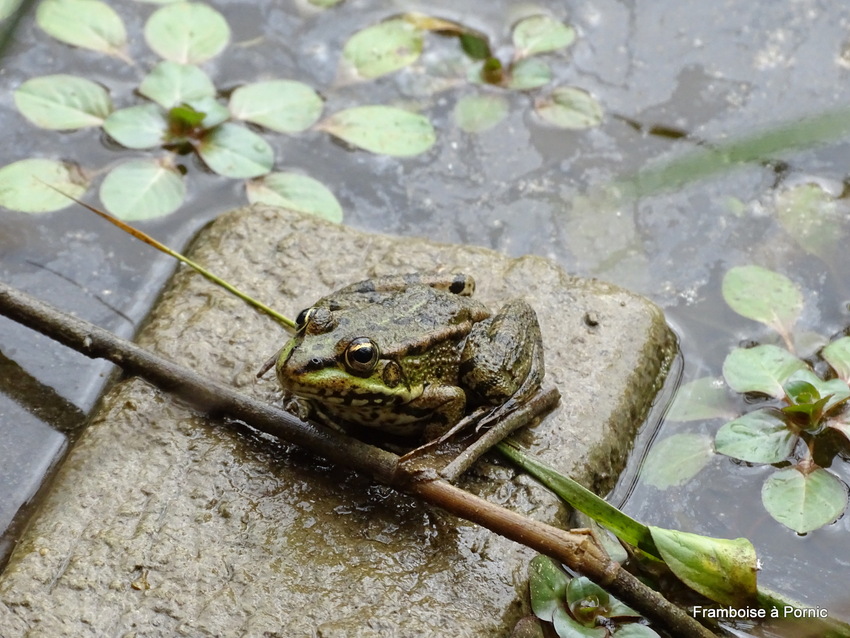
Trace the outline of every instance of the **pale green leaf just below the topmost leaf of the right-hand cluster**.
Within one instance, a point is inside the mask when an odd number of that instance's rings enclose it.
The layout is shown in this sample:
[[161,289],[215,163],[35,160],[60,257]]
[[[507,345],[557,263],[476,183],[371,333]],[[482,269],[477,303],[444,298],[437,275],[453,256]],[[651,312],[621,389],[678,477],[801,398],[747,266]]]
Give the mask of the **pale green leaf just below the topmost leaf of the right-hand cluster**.
[[792,374],[808,366],[783,348],[766,344],[735,348],[723,362],[723,378],[735,392],[761,392],[776,399]]

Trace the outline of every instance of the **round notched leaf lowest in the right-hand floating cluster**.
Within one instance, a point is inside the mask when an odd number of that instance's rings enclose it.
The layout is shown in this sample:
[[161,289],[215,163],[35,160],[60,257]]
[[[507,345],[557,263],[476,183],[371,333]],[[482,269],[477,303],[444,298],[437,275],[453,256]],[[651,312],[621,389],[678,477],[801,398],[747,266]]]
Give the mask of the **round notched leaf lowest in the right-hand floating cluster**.
[[787,467],[764,482],[761,500],[776,521],[805,534],[841,516],[847,507],[847,486],[823,468],[803,474]]

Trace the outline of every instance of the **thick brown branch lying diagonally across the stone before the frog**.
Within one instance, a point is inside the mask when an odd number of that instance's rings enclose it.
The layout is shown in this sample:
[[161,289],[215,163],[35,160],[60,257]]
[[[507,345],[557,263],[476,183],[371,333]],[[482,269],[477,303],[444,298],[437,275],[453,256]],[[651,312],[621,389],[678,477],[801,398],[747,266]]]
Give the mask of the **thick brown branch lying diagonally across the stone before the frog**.
[[373,476],[379,482],[415,494],[422,500],[521,543],[587,575],[647,618],[674,635],[714,636],[681,609],[645,587],[612,562],[586,534],[564,531],[528,519],[465,492],[442,480],[417,480],[399,466],[395,454],[253,400],[234,389],[143,350],[87,321],[0,282],[0,314],[36,330],[91,358],[121,366],[187,403],[213,415],[227,415],[251,427],[303,446],[331,461]]

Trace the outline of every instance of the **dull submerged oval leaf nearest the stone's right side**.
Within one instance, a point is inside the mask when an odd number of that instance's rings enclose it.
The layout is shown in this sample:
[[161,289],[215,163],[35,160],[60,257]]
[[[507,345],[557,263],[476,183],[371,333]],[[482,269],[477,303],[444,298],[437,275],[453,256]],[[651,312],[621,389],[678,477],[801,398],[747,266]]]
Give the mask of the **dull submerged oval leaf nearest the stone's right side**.
[[653,443],[641,468],[641,480],[659,490],[684,485],[711,460],[711,437],[674,434]]

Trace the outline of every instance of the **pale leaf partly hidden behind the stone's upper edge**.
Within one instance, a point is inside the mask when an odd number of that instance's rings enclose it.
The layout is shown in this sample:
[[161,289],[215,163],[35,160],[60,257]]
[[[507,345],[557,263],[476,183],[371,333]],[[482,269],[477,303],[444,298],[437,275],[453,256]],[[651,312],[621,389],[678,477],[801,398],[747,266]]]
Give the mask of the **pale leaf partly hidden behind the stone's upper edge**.
[[248,201],[282,206],[316,215],[332,222],[342,221],[342,206],[320,181],[297,173],[269,173],[246,185]]

